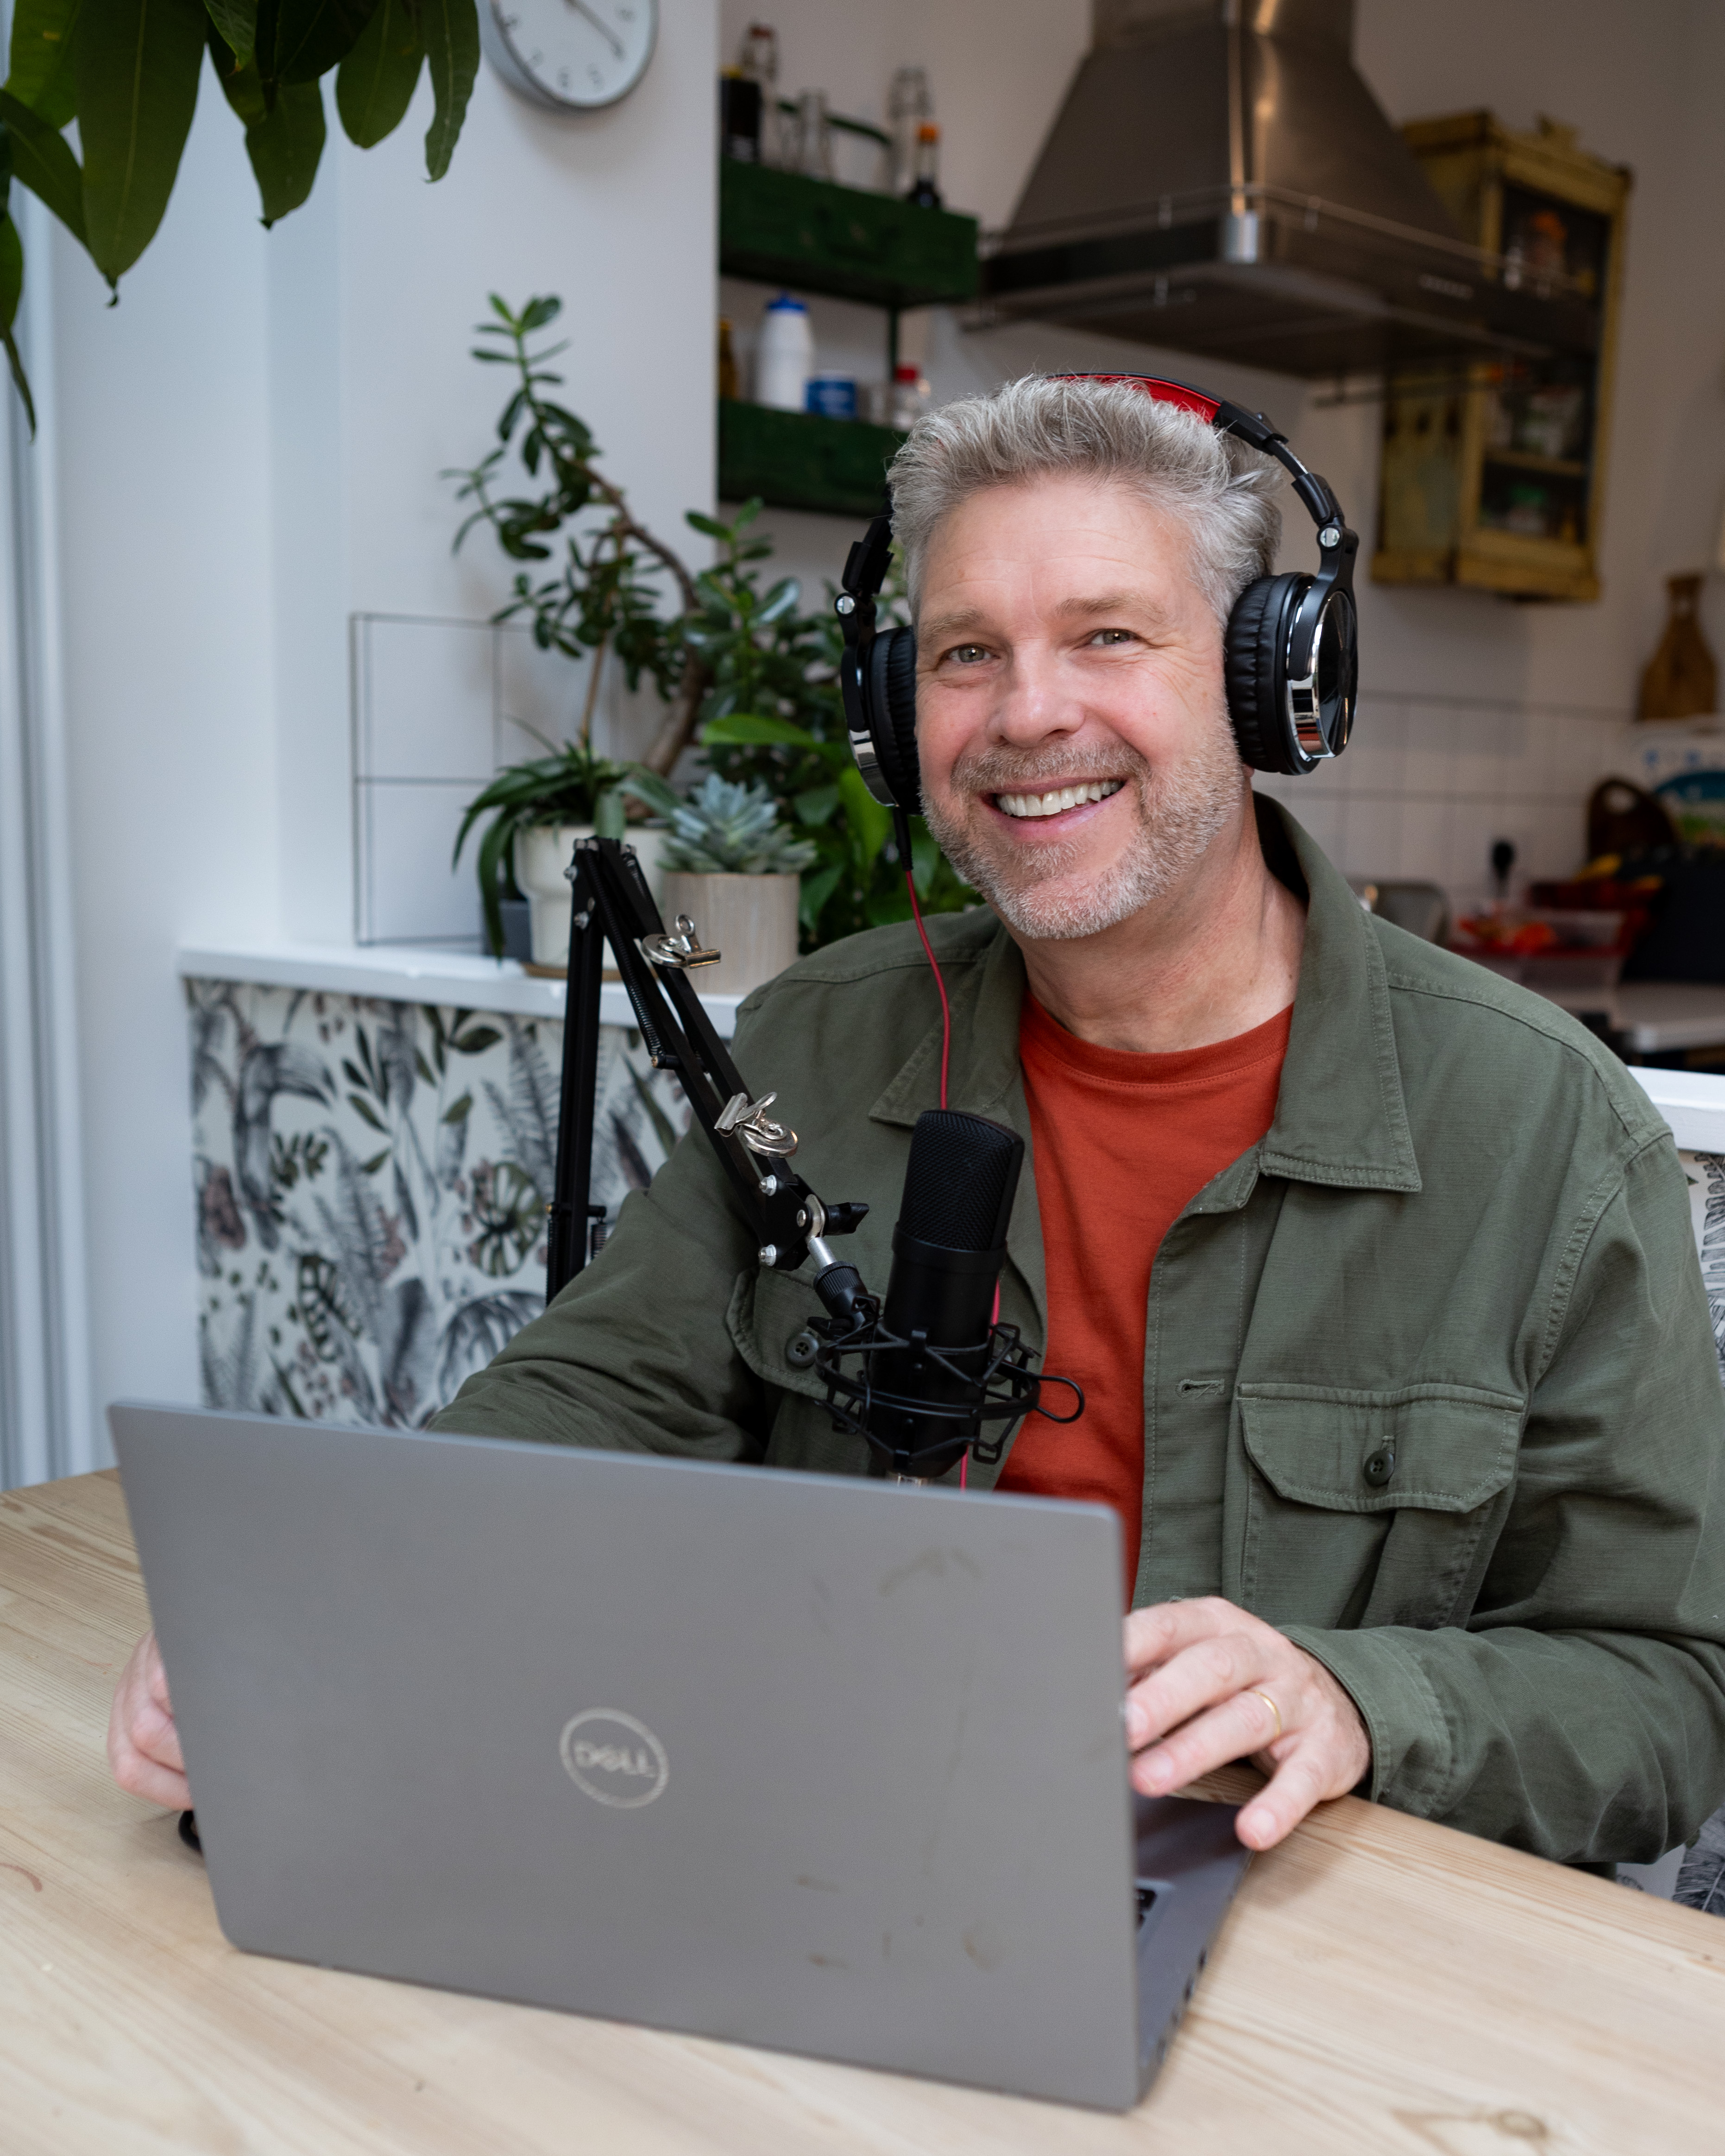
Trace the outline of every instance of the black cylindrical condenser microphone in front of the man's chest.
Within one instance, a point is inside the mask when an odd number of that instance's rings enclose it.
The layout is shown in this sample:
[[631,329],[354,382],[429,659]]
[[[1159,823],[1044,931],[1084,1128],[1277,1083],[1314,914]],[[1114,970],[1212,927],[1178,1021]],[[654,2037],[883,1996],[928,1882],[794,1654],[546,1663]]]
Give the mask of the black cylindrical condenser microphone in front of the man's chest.
[[[919,1481],[942,1475],[977,1434],[1022,1166],[1024,1141],[1005,1123],[962,1108],[916,1117],[880,1313],[884,1335],[906,1345],[882,1350],[875,1382],[888,1399],[875,1399],[867,1416],[882,1473],[901,1475],[897,1462],[919,1455]],[[895,1408],[891,1397],[914,1399],[923,1412]],[[929,1416],[929,1408],[953,1412]]]

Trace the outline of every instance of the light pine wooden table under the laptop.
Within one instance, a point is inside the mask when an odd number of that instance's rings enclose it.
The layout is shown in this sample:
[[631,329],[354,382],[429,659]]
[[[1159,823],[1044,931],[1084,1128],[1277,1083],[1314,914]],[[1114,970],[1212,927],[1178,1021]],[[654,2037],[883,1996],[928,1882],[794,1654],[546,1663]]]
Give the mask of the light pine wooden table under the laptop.
[[1259,1858],[1130,2117],[235,1953],[108,1779],[114,1475],[0,1498],[6,2156],[1725,2147],[1725,1925],[1352,1798]]

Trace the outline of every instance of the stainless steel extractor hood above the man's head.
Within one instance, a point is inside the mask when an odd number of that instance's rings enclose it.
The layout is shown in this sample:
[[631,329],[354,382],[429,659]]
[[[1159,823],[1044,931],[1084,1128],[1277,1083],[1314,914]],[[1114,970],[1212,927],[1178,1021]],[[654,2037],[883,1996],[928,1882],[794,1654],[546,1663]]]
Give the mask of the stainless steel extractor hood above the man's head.
[[[1512,291],[1352,63],[1352,0],[1093,0],[1085,58],[983,263],[998,317],[1287,375],[1591,349]],[[1512,280],[1514,282],[1514,280]]]

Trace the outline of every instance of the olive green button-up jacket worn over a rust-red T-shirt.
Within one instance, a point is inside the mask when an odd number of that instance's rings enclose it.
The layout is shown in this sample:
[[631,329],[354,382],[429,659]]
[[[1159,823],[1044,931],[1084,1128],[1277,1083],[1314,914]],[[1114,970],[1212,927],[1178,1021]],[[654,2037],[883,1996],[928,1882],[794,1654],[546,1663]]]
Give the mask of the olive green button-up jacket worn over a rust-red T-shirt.
[[[1134,1600],[1223,1593],[1317,1656],[1382,1802],[1654,1858],[1725,1798],[1725,1395],[1671,1134],[1559,1009],[1369,918],[1292,819],[1259,819],[1309,893],[1294,1026],[1268,1136],[1156,1255]],[[1029,1145],[1018,949],[990,912],[932,934],[951,1104]],[[884,1289],[938,1100],[914,931],[800,959],[744,1003],[735,1056],[806,1181],[871,1203],[845,1255]],[[1108,1233],[1098,1190],[1098,1268]],[[692,1132],[438,1427],[860,1475],[787,1358],[811,1270],[759,1268]],[[1033,1162],[1000,1317],[1044,1348]]]

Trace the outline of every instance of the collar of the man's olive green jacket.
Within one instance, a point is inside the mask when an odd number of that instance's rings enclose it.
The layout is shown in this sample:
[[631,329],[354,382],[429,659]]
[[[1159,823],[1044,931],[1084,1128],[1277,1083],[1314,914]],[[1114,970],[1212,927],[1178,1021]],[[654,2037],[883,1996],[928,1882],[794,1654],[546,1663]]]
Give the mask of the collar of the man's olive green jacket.
[[[1233,1203],[1244,1203],[1255,1175],[1343,1190],[1419,1190],[1378,938],[1341,873],[1279,802],[1257,796],[1257,828],[1270,867],[1292,888],[1305,884],[1307,940],[1276,1119],[1257,1151],[1255,1173],[1246,1173],[1238,1194],[1231,1192]],[[996,929],[981,964],[953,968],[947,994],[953,1011],[951,1104],[1013,1123],[1029,1143],[1018,1069],[1024,962],[1005,927]],[[869,1115],[880,1123],[910,1125],[923,1108],[938,1106],[936,1024]],[[1223,1179],[1240,1171],[1246,1171],[1244,1160]],[[1216,1197],[1220,1192],[1212,1190]]]

